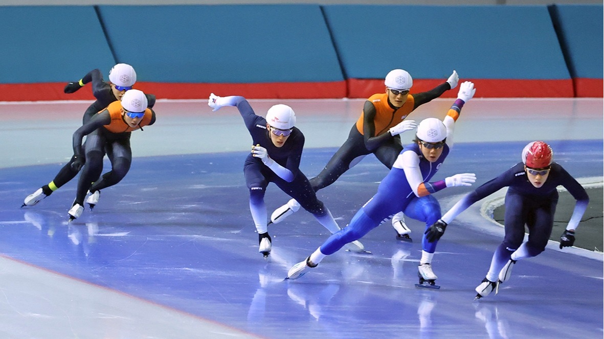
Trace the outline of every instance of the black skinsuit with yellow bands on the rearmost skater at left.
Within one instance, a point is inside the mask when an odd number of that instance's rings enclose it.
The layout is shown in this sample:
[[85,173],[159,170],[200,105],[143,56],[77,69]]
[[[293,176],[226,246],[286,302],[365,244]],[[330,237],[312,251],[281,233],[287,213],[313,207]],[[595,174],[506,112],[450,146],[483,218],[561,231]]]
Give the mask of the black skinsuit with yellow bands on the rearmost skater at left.
[[[95,116],[99,111],[103,110],[105,107],[109,106],[109,104],[114,101],[118,101],[115,98],[113,90],[111,89],[111,84],[106,83],[103,80],[103,74],[98,69],[93,69],[88,72],[88,74],[84,75],[82,80],[80,80],[82,85],[92,83],[92,95],[97,99],[88,106],[86,112],[82,116],[82,124],[86,124],[93,116]],[[79,90],[82,85],[79,82],[69,83],[65,86],[65,93],[74,93]],[[155,95],[145,93],[147,96],[147,101],[149,102],[149,107],[153,107],[155,104]],[[61,186],[68,183],[71,179],[77,176],[78,171],[72,168],[72,163],[75,161],[73,157],[66,163],[60,170],[59,173],[54,177],[53,181],[51,181],[48,185],[42,186],[42,191],[45,195],[51,195],[53,191],[56,191]],[[52,186],[52,187],[51,187]]]

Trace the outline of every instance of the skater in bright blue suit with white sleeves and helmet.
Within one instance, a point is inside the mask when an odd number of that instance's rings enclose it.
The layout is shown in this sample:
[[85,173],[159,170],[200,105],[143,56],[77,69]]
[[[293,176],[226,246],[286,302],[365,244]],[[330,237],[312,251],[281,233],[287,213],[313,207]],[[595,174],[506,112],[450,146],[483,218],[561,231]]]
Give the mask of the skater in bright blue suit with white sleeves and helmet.
[[[306,260],[294,265],[288,272],[289,279],[302,276],[309,267],[315,267],[327,255],[337,252],[350,241],[360,239],[398,212],[425,222],[426,229],[439,220],[440,204],[431,194],[447,187],[471,186],[476,181],[474,174],[463,173],[428,182],[448,156],[453,144],[455,121],[461,107],[474,96],[475,91],[473,83],[462,83],[457,100],[443,121],[428,118],[420,122],[414,143],[406,145],[399,154],[392,170],[378,186],[377,194],[365,203],[347,227],[330,236]],[[437,278],[431,266],[435,248],[436,242],[426,241],[424,235],[418,268],[420,284],[434,285]]]

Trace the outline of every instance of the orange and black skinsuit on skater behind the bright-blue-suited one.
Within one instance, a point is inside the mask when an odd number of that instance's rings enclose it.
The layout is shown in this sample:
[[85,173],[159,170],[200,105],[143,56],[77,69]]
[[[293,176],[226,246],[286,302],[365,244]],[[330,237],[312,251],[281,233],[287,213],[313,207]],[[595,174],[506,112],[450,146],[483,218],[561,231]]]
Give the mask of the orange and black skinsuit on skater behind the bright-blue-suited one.
[[403,106],[398,109],[392,106],[387,93],[371,95],[365,101],[363,112],[350,130],[348,139],[333,154],[323,171],[310,179],[312,188],[316,192],[331,185],[370,153],[375,154],[388,168],[392,168],[403,147],[400,144],[400,136],[392,136],[388,130],[399,124],[417,107],[440,97],[449,89],[451,85],[445,82],[428,92],[409,94]]

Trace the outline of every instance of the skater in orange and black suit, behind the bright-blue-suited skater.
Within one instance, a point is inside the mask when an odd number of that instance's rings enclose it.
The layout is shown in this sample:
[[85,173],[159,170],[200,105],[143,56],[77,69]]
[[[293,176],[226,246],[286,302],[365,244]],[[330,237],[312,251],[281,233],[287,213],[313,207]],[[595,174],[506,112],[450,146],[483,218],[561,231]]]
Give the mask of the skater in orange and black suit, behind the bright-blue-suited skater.
[[[414,120],[406,120],[417,107],[440,97],[447,90],[454,89],[459,81],[457,72],[439,86],[427,92],[410,93],[413,78],[404,69],[393,69],[384,79],[385,92],[371,95],[366,101],[356,124],[350,129],[348,139],[333,154],[325,168],[318,176],[310,179],[310,185],[316,191],[335,182],[342,174],[353,168],[367,154],[373,153],[388,169],[400,151],[400,134],[415,130]],[[271,215],[272,223],[279,223],[292,213],[298,211],[300,204],[289,200]],[[397,232],[397,239],[410,241],[411,230],[399,213],[392,218],[392,226]]]

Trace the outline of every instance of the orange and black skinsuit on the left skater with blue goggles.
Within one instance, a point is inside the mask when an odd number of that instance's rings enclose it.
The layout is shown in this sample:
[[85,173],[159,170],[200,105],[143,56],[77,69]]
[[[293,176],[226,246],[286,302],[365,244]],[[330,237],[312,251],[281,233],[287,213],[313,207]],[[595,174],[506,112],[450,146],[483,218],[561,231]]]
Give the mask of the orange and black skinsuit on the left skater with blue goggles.
[[[137,127],[132,128],[124,121],[121,102],[114,101],[74,132],[74,157],[82,159],[83,156],[86,159],[78,181],[74,203],[83,206],[86,192],[95,192],[113,186],[126,176],[132,163],[130,134],[134,130],[142,130],[141,127],[155,123],[155,112],[150,108],[144,112],[143,119]],[[86,142],[82,145],[84,136]],[[111,161],[111,171],[97,180],[103,171],[105,154]]]

